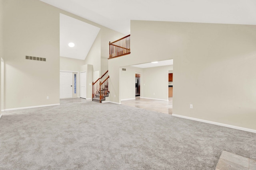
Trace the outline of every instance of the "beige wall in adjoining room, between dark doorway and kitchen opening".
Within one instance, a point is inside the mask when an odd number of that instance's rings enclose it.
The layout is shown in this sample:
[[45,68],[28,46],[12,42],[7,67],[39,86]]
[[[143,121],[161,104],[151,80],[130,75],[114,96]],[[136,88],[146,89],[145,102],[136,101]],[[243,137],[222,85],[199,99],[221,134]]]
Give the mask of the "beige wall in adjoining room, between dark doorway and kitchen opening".
[[172,66],[159,66],[143,69],[143,97],[168,100],[168,70]]

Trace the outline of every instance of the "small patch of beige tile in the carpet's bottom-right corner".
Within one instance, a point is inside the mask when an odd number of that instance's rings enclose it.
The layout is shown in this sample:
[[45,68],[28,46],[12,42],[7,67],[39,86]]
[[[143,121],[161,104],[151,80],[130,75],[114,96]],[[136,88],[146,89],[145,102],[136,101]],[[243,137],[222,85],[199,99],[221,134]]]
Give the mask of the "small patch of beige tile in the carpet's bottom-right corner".
[[216,170],[256,170],[256,160],[223,150]]

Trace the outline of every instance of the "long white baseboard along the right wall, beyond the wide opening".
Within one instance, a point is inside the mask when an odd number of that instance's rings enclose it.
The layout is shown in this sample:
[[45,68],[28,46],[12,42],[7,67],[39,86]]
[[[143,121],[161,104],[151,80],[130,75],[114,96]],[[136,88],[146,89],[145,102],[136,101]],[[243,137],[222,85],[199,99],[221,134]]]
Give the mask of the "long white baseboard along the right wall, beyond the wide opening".
[[175,117],[181,117],[181,118],[184,118],[184,119],[190,119],[190,120],[194,120],[194,121],[200,121],[200,122],[204,122],[204,123],[210,123],[210,124],[213,124],[213,125],[219,125],[219,126],[229,127],[229,128],[232,128],[232,129],[238,129],[238,130],[242,130],[242,131],[248,131],[248,132],[256,133],[256,130],[254,130],[254,129],[248,129],[248,128],[244,128],[244,127],[227,125],[227,124],[224,124],[224,123],[218,123],[218,122],[214,122],[214,121],[197,119],[197,118],[194,118],[194,117],[187,117],[187,116],[176,115],[176,114],[172,114],[172,115],[175,116]]

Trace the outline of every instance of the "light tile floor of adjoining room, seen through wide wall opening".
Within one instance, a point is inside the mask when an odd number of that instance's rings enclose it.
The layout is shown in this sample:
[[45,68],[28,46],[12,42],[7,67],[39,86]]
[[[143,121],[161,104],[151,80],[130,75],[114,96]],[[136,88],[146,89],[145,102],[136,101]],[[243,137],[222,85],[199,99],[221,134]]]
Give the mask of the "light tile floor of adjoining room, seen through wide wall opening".
[[124,100],[121,104],[126,106],[138,107],[151,111],[158,111],[161,113],[172,114],[172,97],[169,101],[144,99],[137,96],[135,100]]

